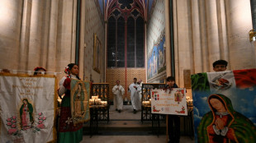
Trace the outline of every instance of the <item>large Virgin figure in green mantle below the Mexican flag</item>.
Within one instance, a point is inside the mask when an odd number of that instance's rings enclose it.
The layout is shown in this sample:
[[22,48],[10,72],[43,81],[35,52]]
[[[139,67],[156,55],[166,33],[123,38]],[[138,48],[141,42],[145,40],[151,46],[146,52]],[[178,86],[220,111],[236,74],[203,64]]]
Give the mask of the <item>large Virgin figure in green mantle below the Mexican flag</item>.
[[197,127],[198,142],[256,142],[254,123],[236,112],[228,97],[210,95],[207,102],[211,111],[203,116]]

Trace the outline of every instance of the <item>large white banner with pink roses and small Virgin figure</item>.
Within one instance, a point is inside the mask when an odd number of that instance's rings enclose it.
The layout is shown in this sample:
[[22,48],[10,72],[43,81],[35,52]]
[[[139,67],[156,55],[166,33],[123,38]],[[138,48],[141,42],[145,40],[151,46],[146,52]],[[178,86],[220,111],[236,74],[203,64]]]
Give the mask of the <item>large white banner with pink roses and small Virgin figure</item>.
[[55,76],[0,73],[0,142],[56,140]]

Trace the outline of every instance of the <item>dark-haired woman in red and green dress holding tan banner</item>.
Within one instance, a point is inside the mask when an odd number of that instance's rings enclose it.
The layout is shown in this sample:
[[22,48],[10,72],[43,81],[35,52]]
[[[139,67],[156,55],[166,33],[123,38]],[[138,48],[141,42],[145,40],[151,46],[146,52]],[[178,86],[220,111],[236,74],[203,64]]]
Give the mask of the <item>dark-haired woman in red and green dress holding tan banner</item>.
[[76,143],[83,140],[83,123],[73,125],[70,108],[70,82],[71,79],[80,80],[78,77],[78,65],[69,63],[65,72],[68,76],[64,76],[59,81],[59,96],[64,95],[61,102],[60,118],[59,118],[59,143]]

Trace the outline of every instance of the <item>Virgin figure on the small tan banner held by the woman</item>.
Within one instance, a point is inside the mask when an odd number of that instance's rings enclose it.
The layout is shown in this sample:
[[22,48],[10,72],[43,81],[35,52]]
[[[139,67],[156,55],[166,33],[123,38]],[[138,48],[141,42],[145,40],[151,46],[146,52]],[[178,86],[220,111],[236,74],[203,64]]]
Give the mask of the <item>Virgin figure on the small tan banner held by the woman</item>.
[[86,90],[83,89],[82,83],[79,83],[77,86],[77,90],[75,90],[73,94],[74,100],[74,118],[80,119],[83,118],[84,108],[83,108],[83,100],[84,100],[84,92]]

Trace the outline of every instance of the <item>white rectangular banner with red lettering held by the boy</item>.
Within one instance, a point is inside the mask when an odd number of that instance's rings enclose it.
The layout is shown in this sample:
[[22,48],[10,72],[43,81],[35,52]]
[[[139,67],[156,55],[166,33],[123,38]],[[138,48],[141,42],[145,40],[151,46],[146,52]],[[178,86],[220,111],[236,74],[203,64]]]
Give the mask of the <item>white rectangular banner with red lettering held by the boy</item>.
[[151,91],[151,112],[187,115],[186,89]]

